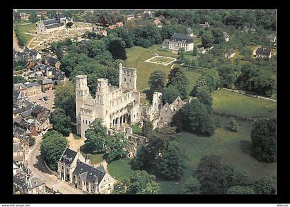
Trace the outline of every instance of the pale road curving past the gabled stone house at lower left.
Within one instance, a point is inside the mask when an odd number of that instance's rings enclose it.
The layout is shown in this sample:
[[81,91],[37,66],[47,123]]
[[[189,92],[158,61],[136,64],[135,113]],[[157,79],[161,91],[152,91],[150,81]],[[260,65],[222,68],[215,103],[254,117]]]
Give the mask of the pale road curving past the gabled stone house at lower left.
[[33,175],[40,177],[48,188],[59,191],[61,194],[83,194],[81,190],[73,188],[66,184],[65,181],[60,181],[44,166],[43,160],[40,157],[41,136],[36,137],[35,146],[28,154],[28,168],[32,170]]

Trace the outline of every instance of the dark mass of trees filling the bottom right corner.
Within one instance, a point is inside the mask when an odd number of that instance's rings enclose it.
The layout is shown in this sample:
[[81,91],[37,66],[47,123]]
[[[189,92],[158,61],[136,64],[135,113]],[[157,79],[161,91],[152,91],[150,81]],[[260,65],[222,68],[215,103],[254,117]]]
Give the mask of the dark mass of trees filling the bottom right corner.
[[189,194],[276,194],[276,177],[255,181],[249,172],[236,166],[223,166],[220,156],[205,155],[200,159],[193,177],[184,184]]

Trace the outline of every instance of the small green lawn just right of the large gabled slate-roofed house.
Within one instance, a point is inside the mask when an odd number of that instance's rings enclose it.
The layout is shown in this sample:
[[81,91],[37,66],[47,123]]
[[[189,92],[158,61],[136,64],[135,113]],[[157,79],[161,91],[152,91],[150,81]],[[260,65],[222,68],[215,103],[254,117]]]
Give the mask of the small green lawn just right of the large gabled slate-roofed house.
[[129,158],[112,161],[108,164],[108,171],[110,175],[116,179],[120,179],[121,177],[129,177],[134,172],[129,164],[130,161],[131,159]]

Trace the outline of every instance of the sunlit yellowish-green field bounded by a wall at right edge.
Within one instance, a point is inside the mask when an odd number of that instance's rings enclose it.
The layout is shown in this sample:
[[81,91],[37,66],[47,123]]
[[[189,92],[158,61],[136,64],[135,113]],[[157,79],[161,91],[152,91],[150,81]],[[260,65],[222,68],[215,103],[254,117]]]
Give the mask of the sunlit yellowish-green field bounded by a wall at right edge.
[[276,115],[276,103],[264,99],[248,97],[229,90],[215,90],[213,109],[231,112],[246,117],[269,117]]

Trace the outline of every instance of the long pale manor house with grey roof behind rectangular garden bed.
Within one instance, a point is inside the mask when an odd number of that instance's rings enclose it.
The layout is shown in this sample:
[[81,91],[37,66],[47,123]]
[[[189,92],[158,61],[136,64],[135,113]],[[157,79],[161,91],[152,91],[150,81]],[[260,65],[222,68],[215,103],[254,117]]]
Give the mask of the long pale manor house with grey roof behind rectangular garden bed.
[[169,50],[184,48],[184,50],[188,52],[193,50],[193,38],[187,34],[175,33],[171,36],[169,41],[166,39],[164,40],[163,46],[168,46]]

